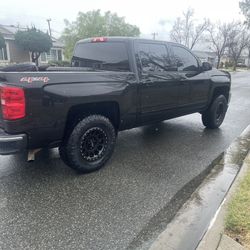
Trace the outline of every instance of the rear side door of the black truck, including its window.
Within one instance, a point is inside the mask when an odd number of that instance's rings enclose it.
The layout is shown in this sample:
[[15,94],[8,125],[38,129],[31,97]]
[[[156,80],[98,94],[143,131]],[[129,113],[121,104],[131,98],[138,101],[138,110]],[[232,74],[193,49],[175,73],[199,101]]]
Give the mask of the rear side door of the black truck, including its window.
[[164,119],[178,109],[184,85],[178,72],[171,69],[167,46],[160,42],[136,41],[139,71],[140,121]]

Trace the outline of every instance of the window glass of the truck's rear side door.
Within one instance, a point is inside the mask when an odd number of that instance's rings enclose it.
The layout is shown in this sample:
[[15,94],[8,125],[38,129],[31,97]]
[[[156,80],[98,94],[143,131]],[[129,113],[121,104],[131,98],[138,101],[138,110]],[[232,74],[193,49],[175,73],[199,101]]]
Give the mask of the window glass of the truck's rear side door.
[[169,57],[165,45],[139,43],[138,53],[144,72],[165,72],[169,70]]

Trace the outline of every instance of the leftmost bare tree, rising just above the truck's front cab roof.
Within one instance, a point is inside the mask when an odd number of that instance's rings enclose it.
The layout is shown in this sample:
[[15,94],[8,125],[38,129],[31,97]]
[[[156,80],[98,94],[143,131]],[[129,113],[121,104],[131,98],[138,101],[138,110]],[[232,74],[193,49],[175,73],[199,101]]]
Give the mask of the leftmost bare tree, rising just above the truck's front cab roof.
[[170,38],[174,42],[193,47],[203,38],[204,32],[208,29],[210,22],[207,19],[200,24],[195,24],[193,19],[194,11],[188,9],[183,12],[183,17],[178,17],[170,31]]

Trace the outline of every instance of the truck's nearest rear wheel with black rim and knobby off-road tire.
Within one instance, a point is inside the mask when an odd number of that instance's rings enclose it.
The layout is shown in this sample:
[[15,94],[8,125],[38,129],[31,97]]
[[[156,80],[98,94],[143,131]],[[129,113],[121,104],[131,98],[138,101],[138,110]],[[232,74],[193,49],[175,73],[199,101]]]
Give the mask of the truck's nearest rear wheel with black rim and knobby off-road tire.
[[91,115],[81,120],[59,147],[66,165],[81,173],[100,169],[110,159],[116,131],[108,118]]

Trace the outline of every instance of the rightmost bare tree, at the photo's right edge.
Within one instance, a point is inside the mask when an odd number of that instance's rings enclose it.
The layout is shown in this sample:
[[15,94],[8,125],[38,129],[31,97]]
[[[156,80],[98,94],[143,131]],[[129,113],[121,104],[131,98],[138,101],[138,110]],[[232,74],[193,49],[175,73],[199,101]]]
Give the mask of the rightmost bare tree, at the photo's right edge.
[[228,52],[233,61],[233,70],[236,70],[237,62],[242,51],[249,46],[250,36],[247,26],[237,23],[229,35]]

